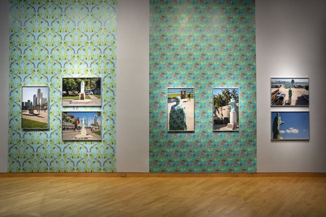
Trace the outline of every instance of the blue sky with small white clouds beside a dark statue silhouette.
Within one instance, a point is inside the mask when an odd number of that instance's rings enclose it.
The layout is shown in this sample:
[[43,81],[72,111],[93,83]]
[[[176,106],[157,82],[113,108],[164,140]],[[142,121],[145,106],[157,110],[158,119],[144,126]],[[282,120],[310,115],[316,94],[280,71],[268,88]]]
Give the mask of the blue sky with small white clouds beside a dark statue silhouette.
[[[309,139],[309,112],[278,112],[284,124],[280,127],[283,139]],[[271,131],[277,112],[272,112]],[[273,132],[271,132],[273,135]]]

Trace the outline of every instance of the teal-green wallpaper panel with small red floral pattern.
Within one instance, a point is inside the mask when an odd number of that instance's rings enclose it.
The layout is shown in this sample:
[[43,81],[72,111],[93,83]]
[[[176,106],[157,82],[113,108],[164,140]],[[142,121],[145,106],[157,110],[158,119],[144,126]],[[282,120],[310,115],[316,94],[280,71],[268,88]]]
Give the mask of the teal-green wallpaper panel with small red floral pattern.
[[[256,171],[255,2],[151,0],[149,171]],[[167,88],[195,88],[195,132],[167,132]],[[239,132],[213,132],[212,88],[239,88]]]

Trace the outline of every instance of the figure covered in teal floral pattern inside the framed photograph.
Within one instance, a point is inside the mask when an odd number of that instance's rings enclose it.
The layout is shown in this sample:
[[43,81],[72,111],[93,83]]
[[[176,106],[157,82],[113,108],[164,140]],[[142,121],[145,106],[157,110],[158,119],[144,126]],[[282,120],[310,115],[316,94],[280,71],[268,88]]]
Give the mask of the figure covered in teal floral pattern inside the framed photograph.
[[186,106],[180,104],[180,96],[176,97],[176,104],[171,107],[169,130],[187,130]]

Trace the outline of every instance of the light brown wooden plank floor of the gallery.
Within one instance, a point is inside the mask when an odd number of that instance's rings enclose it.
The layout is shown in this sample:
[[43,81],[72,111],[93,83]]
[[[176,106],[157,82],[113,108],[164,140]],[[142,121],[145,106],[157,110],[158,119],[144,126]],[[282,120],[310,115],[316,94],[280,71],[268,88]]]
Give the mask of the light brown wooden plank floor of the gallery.
[[326,216],[325,177],[3,177],[0,216]]

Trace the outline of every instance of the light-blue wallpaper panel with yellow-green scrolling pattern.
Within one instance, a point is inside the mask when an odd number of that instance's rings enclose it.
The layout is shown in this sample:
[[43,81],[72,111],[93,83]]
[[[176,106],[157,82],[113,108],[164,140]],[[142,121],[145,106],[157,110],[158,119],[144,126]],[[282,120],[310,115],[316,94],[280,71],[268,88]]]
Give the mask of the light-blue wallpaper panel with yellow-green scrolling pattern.
[[[10,0],[8,172],[116,171],[116,0]],[[61,106],[62,78],[101,77],[102,107]],[[22,131],[22,86],[49,86],[49,130]],[[63,142],[62,111],[101,111],[102,141]]]

